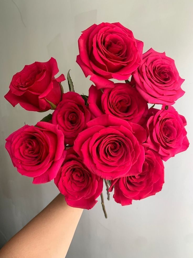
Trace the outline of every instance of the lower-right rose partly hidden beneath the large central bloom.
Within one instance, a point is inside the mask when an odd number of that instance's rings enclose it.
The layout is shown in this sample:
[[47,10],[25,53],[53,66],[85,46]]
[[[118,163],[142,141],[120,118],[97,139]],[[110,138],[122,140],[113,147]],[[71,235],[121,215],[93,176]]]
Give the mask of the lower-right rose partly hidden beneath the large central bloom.
[[160,156],[145,148],[145,161],[142,172],[136,176],[125,176],[111,181],[109,191],[114,186],[113,198],[122,206],[132,204],[132,200],[141,200],[162,190],[164,183],[164,165]]

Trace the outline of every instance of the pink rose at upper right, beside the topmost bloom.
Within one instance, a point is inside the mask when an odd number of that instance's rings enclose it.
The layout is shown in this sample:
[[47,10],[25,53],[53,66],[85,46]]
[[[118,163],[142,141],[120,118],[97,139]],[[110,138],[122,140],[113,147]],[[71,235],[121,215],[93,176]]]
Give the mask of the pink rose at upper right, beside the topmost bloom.
[[148,103],[173,105],[185,93],[174,60],[152,48],[143,54],[131,81]]

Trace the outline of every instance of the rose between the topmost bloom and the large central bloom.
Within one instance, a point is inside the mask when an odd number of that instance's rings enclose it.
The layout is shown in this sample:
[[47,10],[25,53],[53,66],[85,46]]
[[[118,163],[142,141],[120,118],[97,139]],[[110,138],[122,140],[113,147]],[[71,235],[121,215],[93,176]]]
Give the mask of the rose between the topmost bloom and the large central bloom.
[[148,112],[147,102],[128,83],[115,83],[114,88],[103,92],[92,85],[88,104],[94,117],[109,114],[133,123],[138,123]]

